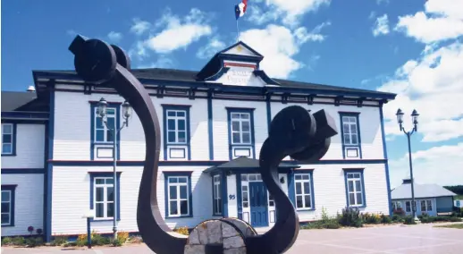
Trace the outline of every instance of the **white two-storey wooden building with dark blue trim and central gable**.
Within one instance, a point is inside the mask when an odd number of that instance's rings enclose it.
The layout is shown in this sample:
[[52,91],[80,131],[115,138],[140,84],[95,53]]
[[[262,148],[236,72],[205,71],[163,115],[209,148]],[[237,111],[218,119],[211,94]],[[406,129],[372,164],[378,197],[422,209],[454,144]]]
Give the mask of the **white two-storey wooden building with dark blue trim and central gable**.
[[[274,201],[257,160],[272,118],[291,105],[325,109],[340,131],[320,162],[282,162],[280,182],[299,220],[319,219],[323,207],[333,216],[346,206],[390,214],[383,104],[395,94],[272,79],[259,68],[263,57],[239,42],[199,72],[131,71],[151,94],[162,127],[157,195],[167,224],[194,227],[234,216],[272,226]],[[28,234],[29,225],[43,228],[46,241],[85,233],[88,209],[96,213],[91,225],[99,233],[112,232],[114,215],[118,230],[137,232],[145,158],[138,116],[116,137],[120,206],[114,211],[113,138],[96,107],[105,97],[112,108],[108,123],[120,126],[123,98],[73,71],[33,76],[36,93],[17,93],[37,94],[25,106],[4,110],[4,97],[12,93],[2,92],[2,236]]]

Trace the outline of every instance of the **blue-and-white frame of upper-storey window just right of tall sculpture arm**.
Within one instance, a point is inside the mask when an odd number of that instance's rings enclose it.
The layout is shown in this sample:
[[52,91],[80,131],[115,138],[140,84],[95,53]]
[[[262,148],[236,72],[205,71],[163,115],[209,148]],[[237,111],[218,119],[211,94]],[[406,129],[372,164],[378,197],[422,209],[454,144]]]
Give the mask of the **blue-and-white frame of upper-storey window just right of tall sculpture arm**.
[[[191,140],[191,132],[190,132],[190,123],[191,123],[191,118],[190,118],[190,105],[170,105],[170,104],[162,104],[163,107],[163,148],[164,148],[164,160],[168,160],[170,156],[170,151],[169,147],[173,147],[176,149],[186,149],[185,152],[185,157],[182,159],[188,159],[191,160],[191,148],[190,148],[190,140]],[[170,111],[183,111],[185,112],[185,142],[170,142],[168,140],[168,120],[169,118],[173,117],[176,119],[175,121],[175,126],[177,127],[177,120],[180,118],[179,116],[168,116],[168,112]],[[175,130],[175,140],[178,140],[178,128]],[[179,157],[181,158],[181,157]]]

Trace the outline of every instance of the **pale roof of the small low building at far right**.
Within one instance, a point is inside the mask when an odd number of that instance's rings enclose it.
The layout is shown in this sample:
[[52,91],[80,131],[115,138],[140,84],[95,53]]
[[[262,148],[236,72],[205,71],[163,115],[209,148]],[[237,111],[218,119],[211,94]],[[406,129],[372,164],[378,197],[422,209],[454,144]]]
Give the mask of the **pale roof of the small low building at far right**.
[[[457,194],[437,184],[414,184],[415,198],[437,198],[456,196]],[[411,184],[403,183],[391,190],[391,199],[411,199]]]

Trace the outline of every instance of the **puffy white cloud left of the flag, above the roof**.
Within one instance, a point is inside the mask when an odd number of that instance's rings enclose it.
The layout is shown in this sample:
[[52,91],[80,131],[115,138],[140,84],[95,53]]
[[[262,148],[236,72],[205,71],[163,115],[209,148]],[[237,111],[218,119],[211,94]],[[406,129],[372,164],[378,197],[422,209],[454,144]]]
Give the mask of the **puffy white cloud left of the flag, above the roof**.
[[147,47],[156,53],[170,53],[179,48],[186,48],[192,42],[212,33],[205,13],[195,8],[182,20],[167,12],[156,24],[156,27],[162,26],[165,26],[164,30],[146,40]]

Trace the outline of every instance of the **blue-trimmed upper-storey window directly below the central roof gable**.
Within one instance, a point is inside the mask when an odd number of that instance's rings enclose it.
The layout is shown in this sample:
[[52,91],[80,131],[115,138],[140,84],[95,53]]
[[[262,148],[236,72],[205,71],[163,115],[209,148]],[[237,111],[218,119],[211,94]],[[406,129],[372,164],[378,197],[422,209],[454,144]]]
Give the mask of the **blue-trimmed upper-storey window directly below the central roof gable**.
[[227,107],[230,159],[256,157],[254,108]]

